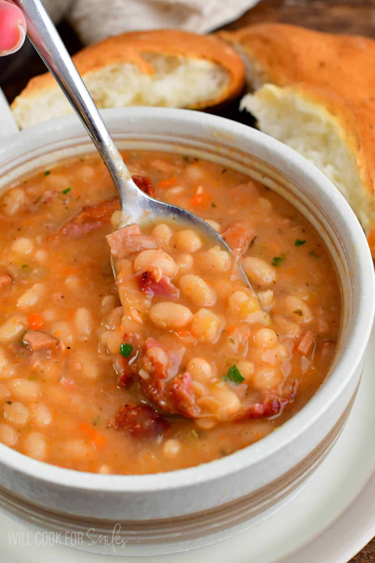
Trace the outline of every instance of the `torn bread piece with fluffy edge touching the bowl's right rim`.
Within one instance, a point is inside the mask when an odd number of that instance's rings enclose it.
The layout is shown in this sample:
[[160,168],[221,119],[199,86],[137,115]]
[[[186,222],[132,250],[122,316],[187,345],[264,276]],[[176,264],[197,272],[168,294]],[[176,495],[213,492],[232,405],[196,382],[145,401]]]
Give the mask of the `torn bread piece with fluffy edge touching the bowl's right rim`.
[[375,257],[375,120],[369,106],[302,83],[265,84],[247,94],[261,131],[313,162],[344,195],[368,237]]

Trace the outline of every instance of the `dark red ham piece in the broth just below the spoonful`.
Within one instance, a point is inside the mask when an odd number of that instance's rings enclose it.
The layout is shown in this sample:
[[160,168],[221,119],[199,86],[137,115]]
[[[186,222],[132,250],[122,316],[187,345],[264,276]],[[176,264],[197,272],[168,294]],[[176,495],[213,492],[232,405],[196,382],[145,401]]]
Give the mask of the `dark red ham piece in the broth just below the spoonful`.
[[169,422],[148,405],[124,405],[116,414],[114,428],[127,430],[134,438],[156,438],[169,429]]

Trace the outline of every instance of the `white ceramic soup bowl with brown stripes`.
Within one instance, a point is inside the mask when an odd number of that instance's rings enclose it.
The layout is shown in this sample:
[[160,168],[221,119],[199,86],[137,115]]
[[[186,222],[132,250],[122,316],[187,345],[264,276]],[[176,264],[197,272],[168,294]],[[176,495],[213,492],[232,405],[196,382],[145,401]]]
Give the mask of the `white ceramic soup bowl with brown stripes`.
[[[290,421],[247,448],[181,471],[113,476],[51,466],[0,444],[0,507],[7,513],[30,526],[60,531],[59,540],[68,544],[78,534],[76,547],[92,551],[178,551],[256,524],[286,503],[329,452],[362,373],[374,315],[373,264],[344,198],[317,168],[278,141],[194,111],[130,108],[102,114],[119,148],[195,155],[272,187],[323,236],[340,276],[344,312],[329,376]],[[31,127],[3,143],[0,187],[91,151],[75,116]]]

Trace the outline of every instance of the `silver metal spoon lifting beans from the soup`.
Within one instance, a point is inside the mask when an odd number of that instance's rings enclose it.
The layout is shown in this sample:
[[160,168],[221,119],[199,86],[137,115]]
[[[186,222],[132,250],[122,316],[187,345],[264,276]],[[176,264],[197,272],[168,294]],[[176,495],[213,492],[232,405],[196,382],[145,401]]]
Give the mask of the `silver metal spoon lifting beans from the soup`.
[[[40,0],[13,0],[13,4],[19,7],[24,14],[27,35],[31,43],[55,77],[109,170],[119,192],[121,211],[123,212],[123,218],[117,228],[130,224],[141,226],[146,220],[150,223],[150,221],[155,222],[162,217],[166,217],[168,221],[183,222],[184,226],[200,231],[204,238],[231,252],[231,248],[223,238],[200,217],[176,205],[153,199],[134,184],[123,158],[116,149],[92,97],[89,95],[42,2]],[[251,287],[242,266],[240,266],[240,270],[243,281]]]

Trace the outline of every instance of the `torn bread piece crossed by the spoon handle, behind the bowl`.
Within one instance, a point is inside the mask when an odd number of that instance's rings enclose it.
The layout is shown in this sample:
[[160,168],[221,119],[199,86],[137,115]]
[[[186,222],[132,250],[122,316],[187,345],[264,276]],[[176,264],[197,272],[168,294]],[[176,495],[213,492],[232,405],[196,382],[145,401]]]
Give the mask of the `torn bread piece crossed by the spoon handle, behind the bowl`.
[[[98,108],[164,106],[203,109],[240,95],[240,56],[213,35],[182,30],[124,33],[73,56]],[[50,73],[30,80],[12,103],[21,128],[73,109]]]

